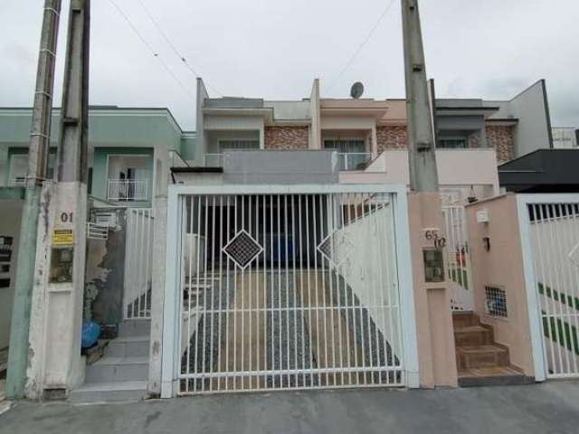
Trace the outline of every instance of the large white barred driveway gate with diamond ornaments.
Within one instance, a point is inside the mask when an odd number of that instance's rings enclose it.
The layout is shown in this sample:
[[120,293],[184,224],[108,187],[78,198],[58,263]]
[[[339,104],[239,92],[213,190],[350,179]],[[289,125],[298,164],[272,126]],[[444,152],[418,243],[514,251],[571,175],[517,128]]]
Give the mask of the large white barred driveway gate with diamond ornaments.
[[282,190],[176,201],[174,392],[406,385],[394,194]]

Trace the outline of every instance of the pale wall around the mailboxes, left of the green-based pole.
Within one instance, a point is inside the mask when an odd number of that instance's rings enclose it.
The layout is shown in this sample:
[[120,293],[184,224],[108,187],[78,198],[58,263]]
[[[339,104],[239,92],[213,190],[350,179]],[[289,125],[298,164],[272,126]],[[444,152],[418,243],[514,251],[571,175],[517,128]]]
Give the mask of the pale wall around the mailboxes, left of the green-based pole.
[[20,236],[20,217],[23,201],[0,201],[0,236],[14,238],[12,259],[10,262],[10,286],[0,288],[0,349],[10,342],[10,321],[12,319],[12,305],[14,302],[14,278],[16,277],[16,258],[18,257],[18,241]]

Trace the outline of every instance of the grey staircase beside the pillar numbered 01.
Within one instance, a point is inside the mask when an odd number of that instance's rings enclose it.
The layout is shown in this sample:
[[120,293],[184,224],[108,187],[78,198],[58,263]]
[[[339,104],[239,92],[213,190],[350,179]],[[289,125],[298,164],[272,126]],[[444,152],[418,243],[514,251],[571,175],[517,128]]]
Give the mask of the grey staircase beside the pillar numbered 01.
[[104,356],[87,366],[85,383],[71,392],[72,402],[138,401],[147,392],[150,320],[119,325],[119,337]]

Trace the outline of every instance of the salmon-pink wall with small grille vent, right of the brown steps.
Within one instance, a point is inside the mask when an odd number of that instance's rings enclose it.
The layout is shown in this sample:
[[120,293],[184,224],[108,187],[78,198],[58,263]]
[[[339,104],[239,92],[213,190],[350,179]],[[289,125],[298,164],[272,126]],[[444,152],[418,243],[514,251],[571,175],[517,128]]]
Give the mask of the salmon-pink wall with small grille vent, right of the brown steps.
[[[482,210],[489,212],[489,223],[477,222],[477,212]],[[467,206],[467,225],[475,312],[483,324],[493,326],[495,341],[508,346],[510,362],[526,375],[534,376],[517,197],[507,194]],[[484,248],[484,237],[489,237],[489,251]],[[505,289],[507,318],[487,315],[486,286]]]

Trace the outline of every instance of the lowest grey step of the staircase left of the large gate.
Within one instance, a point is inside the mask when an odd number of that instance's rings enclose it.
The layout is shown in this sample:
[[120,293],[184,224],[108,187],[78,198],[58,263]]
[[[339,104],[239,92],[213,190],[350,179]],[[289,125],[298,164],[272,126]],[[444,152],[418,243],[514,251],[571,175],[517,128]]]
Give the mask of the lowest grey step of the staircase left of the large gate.
[[88,382],[71,392],[74,403],[139,401],[147,393],[147,382]]

